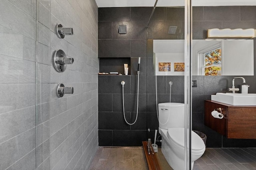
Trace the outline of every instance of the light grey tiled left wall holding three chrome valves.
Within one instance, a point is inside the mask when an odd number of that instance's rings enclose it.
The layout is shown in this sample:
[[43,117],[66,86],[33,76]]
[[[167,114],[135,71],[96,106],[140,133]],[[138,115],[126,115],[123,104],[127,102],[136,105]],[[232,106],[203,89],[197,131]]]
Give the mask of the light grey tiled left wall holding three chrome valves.
[[[0,1],[0,169],[86,169],[98,146],[98,7],[94,0]],[[59,39],[56,23],[73,27]],[[62,49],[74,58],[52,66]],[[56,96],[56,86],[74,94]]]

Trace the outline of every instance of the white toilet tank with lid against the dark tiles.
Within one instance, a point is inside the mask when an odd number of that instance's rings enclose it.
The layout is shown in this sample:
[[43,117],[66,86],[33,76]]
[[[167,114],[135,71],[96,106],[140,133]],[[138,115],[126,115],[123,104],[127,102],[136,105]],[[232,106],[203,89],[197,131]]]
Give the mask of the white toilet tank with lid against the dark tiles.
[[162,129],[185,127],[184,106],[184,103],[158,104],[159,127]]

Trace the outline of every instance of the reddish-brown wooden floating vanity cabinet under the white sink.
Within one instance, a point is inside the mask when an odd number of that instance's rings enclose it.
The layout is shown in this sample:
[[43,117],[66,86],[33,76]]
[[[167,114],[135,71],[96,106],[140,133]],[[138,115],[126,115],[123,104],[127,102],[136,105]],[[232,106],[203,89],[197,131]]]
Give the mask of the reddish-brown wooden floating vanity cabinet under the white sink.
[[[211,114],[218,108],[222,109],[223,119]],[[256,106],[233,106],[205,100],[204,124],[230,139],[256,139]]]

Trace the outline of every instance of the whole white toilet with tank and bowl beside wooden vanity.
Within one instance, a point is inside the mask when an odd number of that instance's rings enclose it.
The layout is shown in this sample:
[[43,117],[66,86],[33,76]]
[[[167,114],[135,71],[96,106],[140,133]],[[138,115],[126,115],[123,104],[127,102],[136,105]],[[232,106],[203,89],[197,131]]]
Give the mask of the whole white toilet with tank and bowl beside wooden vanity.
[[[174,170],[184,170],[184,127],[185,110],[183,103],[160,103],[159,133],[162,135],[162,153]],[[191,169],[194,161],[205,151],[204,141],[191,131]]]

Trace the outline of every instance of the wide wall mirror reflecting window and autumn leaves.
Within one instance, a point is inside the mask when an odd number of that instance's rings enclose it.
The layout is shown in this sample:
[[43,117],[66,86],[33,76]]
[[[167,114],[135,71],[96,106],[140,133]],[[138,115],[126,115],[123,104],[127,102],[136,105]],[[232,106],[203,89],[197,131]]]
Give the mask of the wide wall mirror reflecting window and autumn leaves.
[[[192,75],[254,75],[253,39],[192,40]],[[156,75],[184,75],[184,40],[153,40]]]

